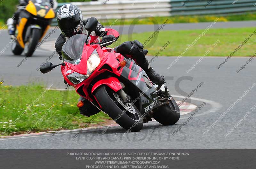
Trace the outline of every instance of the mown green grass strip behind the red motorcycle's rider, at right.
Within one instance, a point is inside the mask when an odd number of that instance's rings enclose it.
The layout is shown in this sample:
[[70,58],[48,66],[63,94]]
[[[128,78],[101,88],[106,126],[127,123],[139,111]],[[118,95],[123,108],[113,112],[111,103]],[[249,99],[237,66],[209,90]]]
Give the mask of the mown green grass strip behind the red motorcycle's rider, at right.
[[[162,48],[167,41],[170,41],[171,45],[167,46],[159,56],[179,56],[203,31],[204,30],[160,31],[158,37],[151,40],[155,41],[153,46],[146,45],[145,48],[149,50],[148,55],[153,56],[155,53],[159,52],[160,48]],[[220,43],[211,50],[208,56],[228,56],[254,31],[255,28],[210,29],[205,36],[201,37],[201,39],[184,54],[184,56],[202,56],[217,39],[220,40]],[[129,35],[129,40],[137,39],[144,43],[152,33],[153,32],[135,33],[132,37]],[[127,35],[121,35],[114,45],[118,45],[120,42],[127,40]],[[255,53],[255,49],[256,35],[236,52],[234,56],[252,56]]]

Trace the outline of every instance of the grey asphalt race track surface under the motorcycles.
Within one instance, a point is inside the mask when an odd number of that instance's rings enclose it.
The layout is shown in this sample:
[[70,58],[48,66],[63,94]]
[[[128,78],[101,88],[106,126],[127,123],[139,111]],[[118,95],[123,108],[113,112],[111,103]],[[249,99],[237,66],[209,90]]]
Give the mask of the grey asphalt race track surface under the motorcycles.
[[[191,27],[204,29],[207,27],[207,24],[204,24],[197,26],[191,24]],[[230,27],[241,27],[255,26],[256,24],[255,22],[226,23],[222,27],[229,25]],[[175,25],[172,26],[175,27]],[[179,26],[180,24],[177,24],[177,27]],[[172,29],[176,29],[173,27]],[[150,31],[150,29],[147,30]],[[58,33],[52,35],[51,39],[55,39]],[[9,36],[2,31],[0,49],[5,47],[8,40]],[[39,48],[32,57],[17,67],[16,65],[24,59],[24,56],[13,56],[8,49],[0,56],[2,63],[0,78],[6,85],[44,81],[46,84],[53,83],[55,88],[64,88],[60,69],[56,68],[44,75],[36,71],[36,68],[51,53],[52,51]],[[102,134],[104,129],[86,130],[76,138],[73,136],[77,132],[58,133],[55,136],[44,134],[24,138],[2,138],[0,139],[0,149],[255,149],[256,110],[251,112],[250,108],[256,104],[256,87],[237,102],[233,109],[214,125],[214,128],[207,134],[204,132],[220,118],[232,103],[236,102],[245,90],[256,82],[256,62],[252,61],[244,70],[236,73],[236,70],[249,59],[248,57],[231,58],[220,69],[216,67],[225,59],[224,57],[207,57],[188,74],[186,70],[199,57],[182,57],[171,69],[166,69],[175,59],[176,57],[159,57],[152,63],[152,66],[158,73],[166,77],[167,85],[176,100],[184,99],[201,82],[204,82],[192,96],[191,103],[197,106],[203,102],[206,103],[206,106],[199,110],[196,116],[176,134],[172,135],[172,132],[185,122],[190,114],[181,116],[179,122],[173,126],[162,126],[157,122],[150,122],[145,124],[140,132],[125,135],[125,130],[116,126],[108,128],[105,134]],[[60,63],[60,60],[55,55],[51,62]],[[248,116],[241,121],[246,113]],[[239,121],[241,124],[228,137],[225,137],[224,135]]]

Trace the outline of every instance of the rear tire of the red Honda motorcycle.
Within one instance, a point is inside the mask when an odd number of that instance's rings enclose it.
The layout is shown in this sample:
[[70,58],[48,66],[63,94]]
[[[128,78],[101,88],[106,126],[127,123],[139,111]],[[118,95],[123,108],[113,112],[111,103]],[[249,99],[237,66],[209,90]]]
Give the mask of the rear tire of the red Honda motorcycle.
[[153,111],[153,118],[163,125],[173,125],[180,119],[180,108],[173,99],[169,105],[161,106]]

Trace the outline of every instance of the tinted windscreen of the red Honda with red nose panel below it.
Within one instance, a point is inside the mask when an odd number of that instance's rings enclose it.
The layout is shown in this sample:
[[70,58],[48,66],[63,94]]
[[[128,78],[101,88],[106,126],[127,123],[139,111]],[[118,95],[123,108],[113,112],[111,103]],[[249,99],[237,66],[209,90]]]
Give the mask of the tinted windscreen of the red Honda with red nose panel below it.
[[[83,53],[85,40],[86,35],[84,34],[74,35],[64,43],[61,50],[63,61],[72,64],[70,68],[78,73],[82,73],[80,72],[82,68],[79,64],[82,62],[82,55],[85,54]],[[84,61],[86,62],[86,60]],[[86,63],[84,64],[84,68],[87,69]],[[82,74],[87,73],[86,69]]]

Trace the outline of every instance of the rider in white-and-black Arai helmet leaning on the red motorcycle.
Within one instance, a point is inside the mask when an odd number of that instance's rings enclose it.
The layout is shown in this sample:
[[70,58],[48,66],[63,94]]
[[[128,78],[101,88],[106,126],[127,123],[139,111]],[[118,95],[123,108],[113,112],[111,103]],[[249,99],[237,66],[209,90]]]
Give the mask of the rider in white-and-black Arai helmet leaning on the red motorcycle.
[[[83,15],[80,9],[76,5],[66,4],[60,7],[57,13],[57,22],[62,32],[55,43],[56,51],[59,55],[60,60],[62,60],[61,48],[66,42],[66,40],[76,34],[85,34],[88,32],[85,30],[85,25],[89,18],[85,21],[83,20]],[[113,39],[119,38],[119,33],[110,28],[104,28],[98,22],[97,28],[91,33],[90,38],[92,43],[109,42]],[[149,76],[149,79],[157,85],[162,85],[164,83],[164,76],[157,74],[156,71],[150,66],[148,60],[145,57],[147,54],[143,50],[144,46],[138,41],[127,41],[123,44],[117,46],[114,51],[116,53],[121,53],[126,58],[132,58]]]

